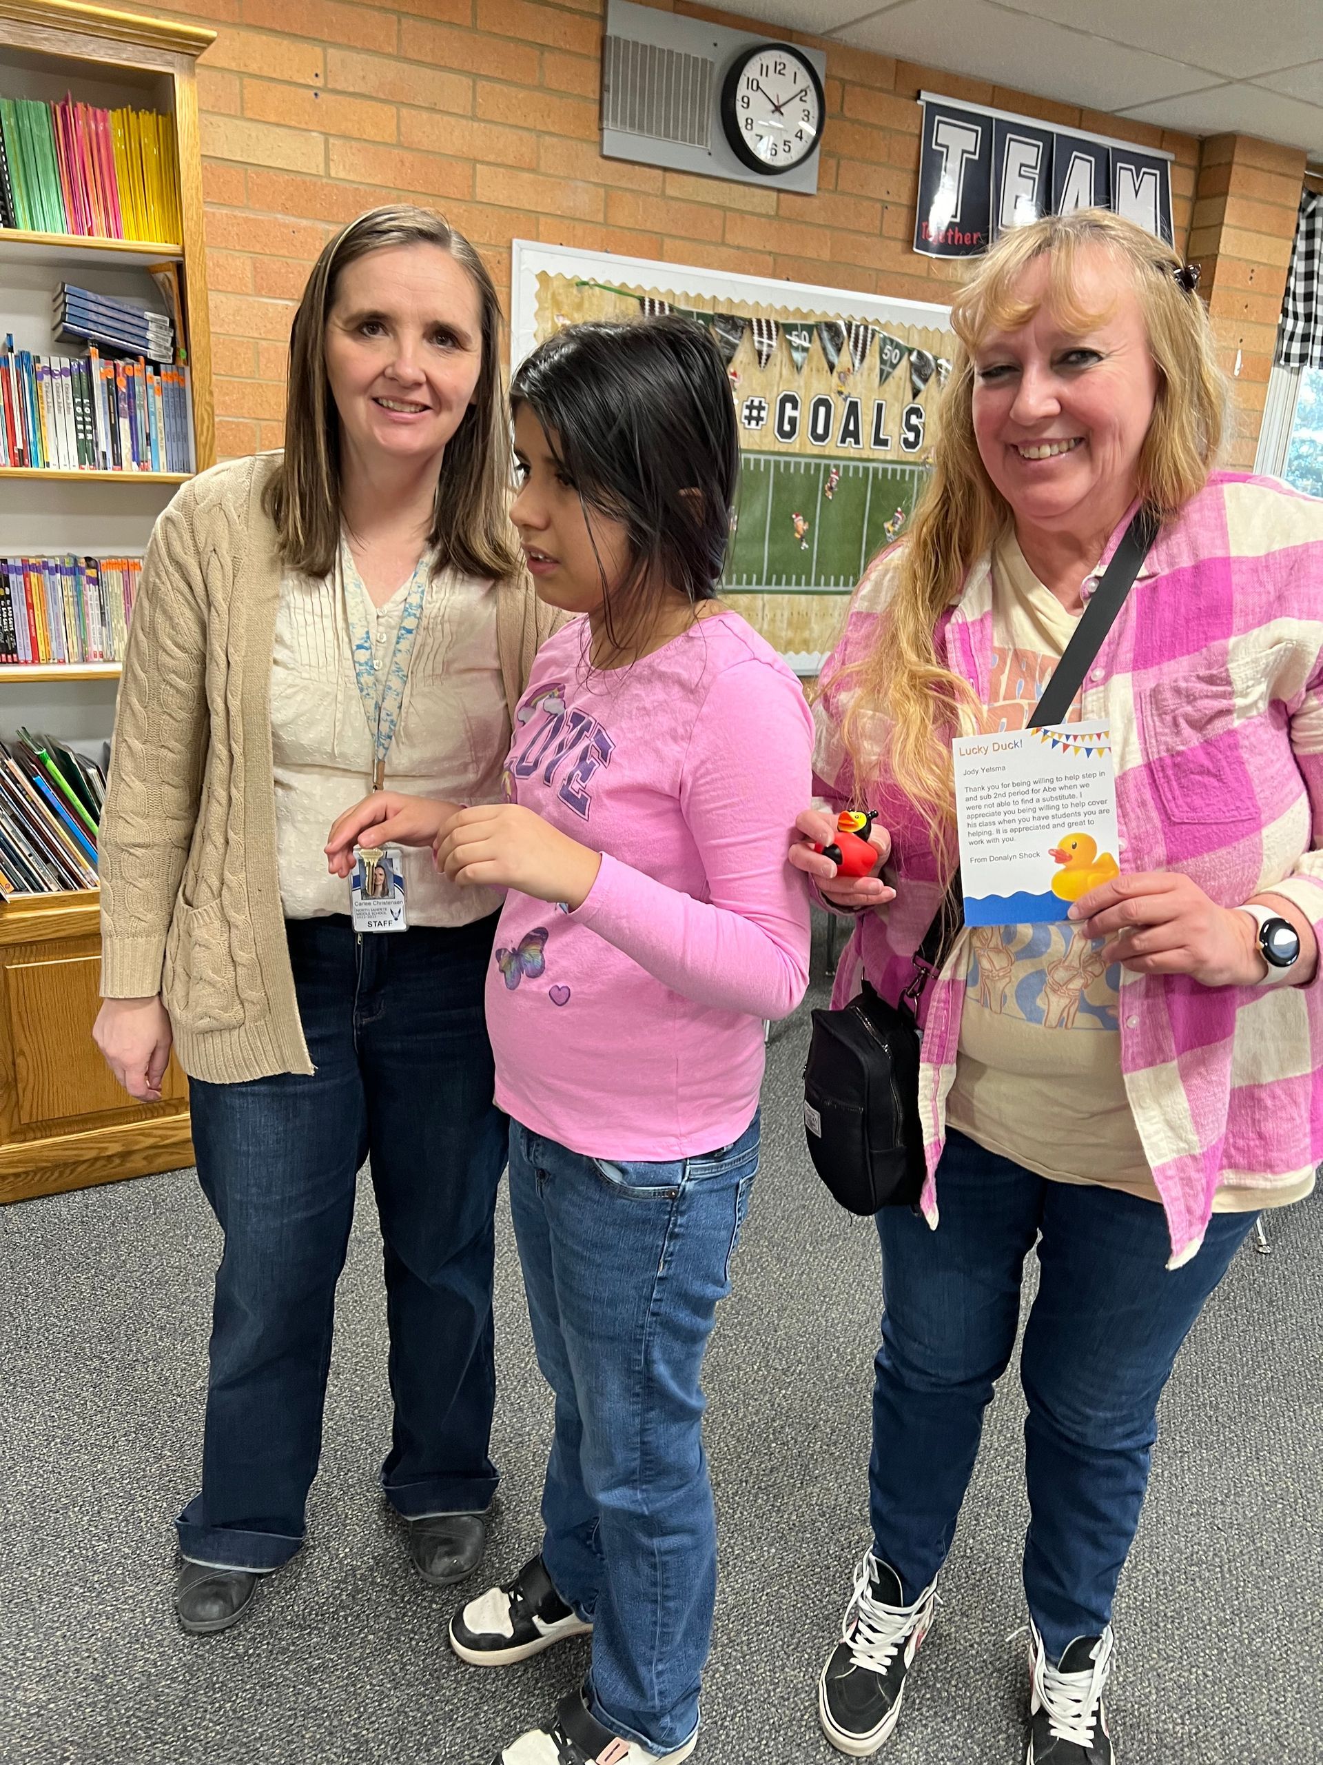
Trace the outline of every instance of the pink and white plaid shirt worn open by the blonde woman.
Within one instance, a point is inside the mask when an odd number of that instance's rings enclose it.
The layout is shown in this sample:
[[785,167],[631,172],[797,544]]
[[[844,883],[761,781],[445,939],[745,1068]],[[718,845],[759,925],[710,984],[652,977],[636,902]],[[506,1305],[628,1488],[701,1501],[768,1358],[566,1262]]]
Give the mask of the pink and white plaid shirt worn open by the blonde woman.
[[[870,567],[822,671],[813,770],[833,807],[854,796],[840,740],[850,685],[834,676],[877,642],[894,556]],[[944,614],[937,648],[986,704],[988,558]],[[1162,528],[1088,671],[1081,717],[1111,729],[1124,870],[1180,870],[1224,907],[1270,890],[1309,916],[1323,944],[1323,501],[1272,478],[1214,473]],[[886,715],[868,732],[886,755]],[[942,879],[919,817],[886,771],[859,796],[891,830],[896,900],[861,916],[834,1003],[866,974],[894,1004]],[[923,1213],[931,1227],[967,973],[961,937],[923,1006]],[[1118,1018],[1125,1093],[1177,1267],[1203,1243],[1219,1184],[1286,1186],[1323,1160],[1323,964],[1307,987],[1265,988],[1122,971]]]

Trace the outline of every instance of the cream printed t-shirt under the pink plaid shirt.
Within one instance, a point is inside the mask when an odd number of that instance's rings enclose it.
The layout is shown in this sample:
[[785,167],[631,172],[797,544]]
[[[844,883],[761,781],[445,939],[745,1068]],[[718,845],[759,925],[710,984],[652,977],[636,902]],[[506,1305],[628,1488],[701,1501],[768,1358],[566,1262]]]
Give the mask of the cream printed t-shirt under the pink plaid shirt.
[[[993,554],[991,586],[988,727],[1025,729],[1080,616],[1039,582],[1014,535]],[[1067,722],[1078,720],[1076,699]],[[1102,946],[1065,920],[963,935],[970,964],[949,1126],[1041,1177],[1157,1202],[1120,1071],[1120,964],[1104,965]],[[1258,1190],[1224,1188],[1214,1202],[1217,1213],[1261,1205]]]

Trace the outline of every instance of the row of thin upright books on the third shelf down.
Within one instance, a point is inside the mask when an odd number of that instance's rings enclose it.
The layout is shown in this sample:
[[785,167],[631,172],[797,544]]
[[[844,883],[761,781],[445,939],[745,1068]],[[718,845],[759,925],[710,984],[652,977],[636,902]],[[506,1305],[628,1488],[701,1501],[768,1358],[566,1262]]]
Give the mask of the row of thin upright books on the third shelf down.
[[0,558],[0,667],[123,662],[141,558]]

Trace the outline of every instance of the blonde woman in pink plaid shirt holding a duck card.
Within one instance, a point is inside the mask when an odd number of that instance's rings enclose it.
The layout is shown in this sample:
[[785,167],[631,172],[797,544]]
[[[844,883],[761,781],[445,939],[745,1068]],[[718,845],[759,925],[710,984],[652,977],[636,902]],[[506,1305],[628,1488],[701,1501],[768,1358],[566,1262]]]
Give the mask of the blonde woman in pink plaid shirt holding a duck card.
[[[866,976],[894,1004],[954,868],[951,734],[1025,727],[1132,514],[1161,515],[1073,711],[1111,731],[1120,874],[1069,923],[967,928],[923,1003],[928,1181],[877,1220],[873,1546],[818,1684],[854,1756],[900,1716],[1037,1243],[1028,1765],[1113,1765],[1157,1400],[1258,1209],[1323,1158],[1323,503],[1214,469],[1228,388],[1194,281],[1095,210],[988,252],[924,501],[824,669],[827,807],[790,856],[857,914],[836,1003]],[[813,851],[845,807],[878,810],[871,877]]]

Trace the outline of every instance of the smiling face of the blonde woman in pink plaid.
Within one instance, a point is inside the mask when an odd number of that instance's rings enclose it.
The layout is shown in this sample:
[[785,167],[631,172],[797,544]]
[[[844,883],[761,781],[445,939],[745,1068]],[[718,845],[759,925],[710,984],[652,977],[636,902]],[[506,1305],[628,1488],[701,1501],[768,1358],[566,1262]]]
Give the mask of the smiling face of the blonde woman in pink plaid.
[[1159,371],[1129,272],[1106,249],[1076,259],[1073,300],[1094,316],[1083,332],[1051,311],[1048,277],[1044,254],[1016,286],[1035,311],[974,349],[974,436],[1018,528],[1106,533],[1136,494]]

